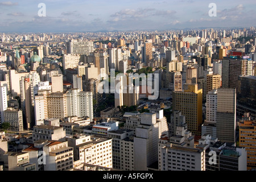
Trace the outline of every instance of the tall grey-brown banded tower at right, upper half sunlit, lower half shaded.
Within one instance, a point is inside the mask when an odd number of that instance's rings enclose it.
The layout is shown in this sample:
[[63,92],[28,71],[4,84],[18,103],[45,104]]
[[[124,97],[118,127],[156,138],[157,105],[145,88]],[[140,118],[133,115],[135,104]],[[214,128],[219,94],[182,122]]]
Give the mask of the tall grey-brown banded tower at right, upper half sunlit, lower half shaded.
[[216,119],[217,138],[221,142],[236,142],[236,89],[218,89]]

